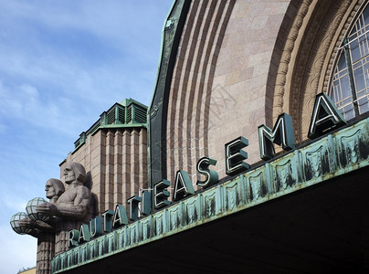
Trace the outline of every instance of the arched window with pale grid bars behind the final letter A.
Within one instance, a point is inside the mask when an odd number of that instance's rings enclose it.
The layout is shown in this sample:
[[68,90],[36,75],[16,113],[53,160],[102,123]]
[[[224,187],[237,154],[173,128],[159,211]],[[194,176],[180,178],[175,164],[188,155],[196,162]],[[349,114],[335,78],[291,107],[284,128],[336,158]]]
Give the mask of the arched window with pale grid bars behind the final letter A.
[[343,38],[329,94],[346,120],[369,111],[369,5]]

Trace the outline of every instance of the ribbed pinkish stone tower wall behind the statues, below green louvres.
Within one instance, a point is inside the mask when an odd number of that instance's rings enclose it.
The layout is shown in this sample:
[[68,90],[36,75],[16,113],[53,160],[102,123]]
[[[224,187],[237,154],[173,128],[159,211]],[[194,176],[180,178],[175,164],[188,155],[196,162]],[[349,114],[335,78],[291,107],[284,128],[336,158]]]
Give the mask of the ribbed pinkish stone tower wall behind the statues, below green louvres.
[[[100,129],[67,161],[84,165],[93,195],[90,216],[115,205],[126,205],[128,198],[147,189],[147,130],[143,127]],[[60,164],[62,177],[66,162]]]

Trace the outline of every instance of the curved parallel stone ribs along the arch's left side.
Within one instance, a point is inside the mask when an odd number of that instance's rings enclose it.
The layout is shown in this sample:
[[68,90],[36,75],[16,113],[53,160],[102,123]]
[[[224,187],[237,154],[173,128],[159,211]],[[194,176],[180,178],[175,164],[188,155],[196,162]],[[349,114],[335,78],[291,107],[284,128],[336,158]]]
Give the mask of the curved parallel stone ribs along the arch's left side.
[[194,1],[178,48],[168,106],[168,179],[208,155],[207,130],[216,58],[234,1]]

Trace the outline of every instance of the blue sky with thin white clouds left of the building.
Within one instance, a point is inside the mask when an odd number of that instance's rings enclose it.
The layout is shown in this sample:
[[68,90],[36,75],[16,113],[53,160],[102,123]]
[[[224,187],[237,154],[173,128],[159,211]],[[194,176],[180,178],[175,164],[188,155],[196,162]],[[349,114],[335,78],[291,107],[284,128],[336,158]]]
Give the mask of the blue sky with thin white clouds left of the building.
[[172,0],[0,2],[1,273],[36,265],[37,240],[11,216],[115,102],[148,105]]

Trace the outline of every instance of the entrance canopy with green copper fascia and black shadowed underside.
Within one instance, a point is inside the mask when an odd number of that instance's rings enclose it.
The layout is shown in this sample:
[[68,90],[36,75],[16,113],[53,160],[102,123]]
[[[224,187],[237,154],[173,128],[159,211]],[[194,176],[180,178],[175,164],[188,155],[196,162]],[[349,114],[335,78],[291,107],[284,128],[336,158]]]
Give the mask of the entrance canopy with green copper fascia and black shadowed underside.
[[369,269],[369,119],[53,259],[53,273]]

